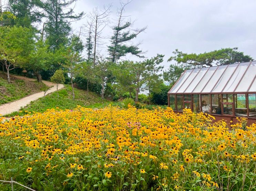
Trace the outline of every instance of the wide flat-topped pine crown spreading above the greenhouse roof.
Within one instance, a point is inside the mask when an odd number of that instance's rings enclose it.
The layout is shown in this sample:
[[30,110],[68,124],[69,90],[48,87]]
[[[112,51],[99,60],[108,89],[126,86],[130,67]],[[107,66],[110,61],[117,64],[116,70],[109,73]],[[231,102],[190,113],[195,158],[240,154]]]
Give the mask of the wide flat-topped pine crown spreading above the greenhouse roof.
[[248,62],[253,60],[252,57],[244,55],[244,52],[237,51],[238,48],[222,48],[220,50],[213,50],[200,54],[183,53],[176,49],[174,56],[170,57],[168,61],[175,60],[177,63],[190,64],[193,67],[212,67],[216,65],[226,65],[235,62]]

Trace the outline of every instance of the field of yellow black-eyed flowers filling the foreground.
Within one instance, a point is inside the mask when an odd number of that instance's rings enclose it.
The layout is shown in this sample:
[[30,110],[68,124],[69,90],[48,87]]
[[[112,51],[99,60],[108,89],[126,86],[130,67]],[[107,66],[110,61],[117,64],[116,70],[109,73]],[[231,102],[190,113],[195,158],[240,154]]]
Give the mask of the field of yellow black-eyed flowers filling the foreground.
[[112,106],[16,117],[0,123],[0,180],[49,191],[256,190],[256,124],[212,119]]

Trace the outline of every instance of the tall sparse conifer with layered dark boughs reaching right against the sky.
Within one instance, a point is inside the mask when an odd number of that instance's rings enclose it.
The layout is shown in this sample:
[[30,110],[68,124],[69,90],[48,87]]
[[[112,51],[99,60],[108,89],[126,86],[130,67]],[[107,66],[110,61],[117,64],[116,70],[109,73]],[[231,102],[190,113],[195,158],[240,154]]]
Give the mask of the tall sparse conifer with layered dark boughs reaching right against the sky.
[[119,16],[116,25],[113,27],[113,36],[111,37],[111,45],[107,46],[109,51],[110,60],[115,63],[121,57],[131,53],[140,58],[144,58],[142,50],[139,49],[139,45],[129,45],[129,42],[136,38],[141,32],[145,31],[146,27],[131,29],[133,22],[125,21],[127,16],[124,15],[124,8],[127,3],[121,2],[121,8],[117,14]]

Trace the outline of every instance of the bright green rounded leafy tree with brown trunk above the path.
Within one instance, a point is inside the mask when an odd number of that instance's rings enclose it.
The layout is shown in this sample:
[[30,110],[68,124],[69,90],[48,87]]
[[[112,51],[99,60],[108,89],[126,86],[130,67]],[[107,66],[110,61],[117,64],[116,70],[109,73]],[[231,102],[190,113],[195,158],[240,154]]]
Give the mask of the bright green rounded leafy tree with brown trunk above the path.
[[53,54],[50,52],[49,45],[39,40],[28,55],[28,63],[24,65],[24,68],[33,70],[37,81],[42,82],[41,72],[49,69],[52,60]]

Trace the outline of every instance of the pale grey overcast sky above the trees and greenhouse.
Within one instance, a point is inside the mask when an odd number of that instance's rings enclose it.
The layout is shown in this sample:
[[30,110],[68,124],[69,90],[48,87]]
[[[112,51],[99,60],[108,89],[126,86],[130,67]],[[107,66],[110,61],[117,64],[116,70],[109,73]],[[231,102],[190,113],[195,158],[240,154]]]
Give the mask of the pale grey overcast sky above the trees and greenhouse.
[[[125,0],[124,0],[125,1]],[[111,18],[116,19],[119,0],[78,0],[75,12],[89,13],[94,7],[112,3]],[[177,48],[187,53],[202,53],[227,47],[238,47],[239,51],[256,59],[256,1],[255,0],[133,0],[125,9],[125,15],[136,20],[134,28],[147,26],[134,43],[143,41],[140,48],[145,57],[157,53],[167,59]],[[86,18],[73,22],[76,30],[86,23]],[[106,27],[105,37],[112,30]],[[103,45],[106,47],[107,44]],[[106,48],[102,53],[107,56]],[[130,60],[139,60],[127,56]]]

